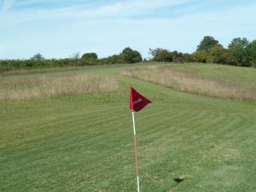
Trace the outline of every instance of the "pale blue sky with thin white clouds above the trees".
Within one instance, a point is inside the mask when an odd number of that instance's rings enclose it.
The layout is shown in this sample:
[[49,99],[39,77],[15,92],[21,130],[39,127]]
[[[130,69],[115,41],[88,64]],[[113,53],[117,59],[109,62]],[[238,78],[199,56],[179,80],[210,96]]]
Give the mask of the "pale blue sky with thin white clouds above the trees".
[[0,0],[0,59],[191,53],[206,35],[226,47],[256,39],[255,10],[255,0]]

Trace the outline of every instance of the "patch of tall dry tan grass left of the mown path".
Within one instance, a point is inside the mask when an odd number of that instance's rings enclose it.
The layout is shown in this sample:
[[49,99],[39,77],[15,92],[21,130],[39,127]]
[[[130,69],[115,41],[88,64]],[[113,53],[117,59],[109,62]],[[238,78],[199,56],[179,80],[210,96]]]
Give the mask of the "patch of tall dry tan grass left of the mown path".
[[118,83],[110,77],[85,74],[29,75],[0,79],[0,101],[44,99],[116,89]]

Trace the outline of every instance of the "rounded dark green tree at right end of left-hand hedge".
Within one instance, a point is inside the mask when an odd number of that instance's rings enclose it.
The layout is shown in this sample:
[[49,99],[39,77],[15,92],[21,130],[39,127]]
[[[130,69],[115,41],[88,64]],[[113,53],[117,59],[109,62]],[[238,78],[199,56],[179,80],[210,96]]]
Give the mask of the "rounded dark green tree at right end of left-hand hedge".
[[143,61],[142,55],[137,51],[133,50],[130,47],[123,49],[121,56],[125,63],[136,63]]

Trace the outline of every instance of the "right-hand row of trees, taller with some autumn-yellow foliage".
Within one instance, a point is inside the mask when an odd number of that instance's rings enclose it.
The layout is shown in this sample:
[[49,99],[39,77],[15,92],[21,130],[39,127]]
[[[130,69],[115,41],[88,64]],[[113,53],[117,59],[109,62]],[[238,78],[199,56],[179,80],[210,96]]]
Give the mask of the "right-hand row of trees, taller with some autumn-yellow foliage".
[[163,62],[203,62],[218,63],[241,67],[256,67],[256,40],[234,38],[228,48],[218,40],[205,36],[192,54],[169,51],[168,49],[149,49],[153,61]]

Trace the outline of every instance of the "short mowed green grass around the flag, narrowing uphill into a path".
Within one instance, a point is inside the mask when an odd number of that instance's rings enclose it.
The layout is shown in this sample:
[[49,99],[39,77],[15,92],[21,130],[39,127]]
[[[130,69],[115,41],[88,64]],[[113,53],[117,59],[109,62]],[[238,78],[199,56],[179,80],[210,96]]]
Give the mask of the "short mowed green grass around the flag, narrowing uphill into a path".
[[189,95],[123,68],[61,72],[109,75],[119,90],[1,102],[0,191],[136,191],[130,84],[152,101],[136,113],[141,191],[255,191],[255,102]]

